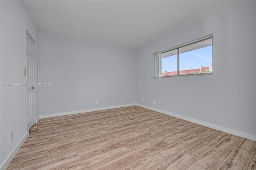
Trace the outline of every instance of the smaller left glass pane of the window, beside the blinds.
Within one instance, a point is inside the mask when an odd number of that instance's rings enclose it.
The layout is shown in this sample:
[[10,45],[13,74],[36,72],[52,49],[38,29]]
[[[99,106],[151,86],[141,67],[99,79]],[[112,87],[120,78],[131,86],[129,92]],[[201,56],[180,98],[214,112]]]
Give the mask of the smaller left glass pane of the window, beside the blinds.
[[162,76],[177,75],[177,49],[161,53]]

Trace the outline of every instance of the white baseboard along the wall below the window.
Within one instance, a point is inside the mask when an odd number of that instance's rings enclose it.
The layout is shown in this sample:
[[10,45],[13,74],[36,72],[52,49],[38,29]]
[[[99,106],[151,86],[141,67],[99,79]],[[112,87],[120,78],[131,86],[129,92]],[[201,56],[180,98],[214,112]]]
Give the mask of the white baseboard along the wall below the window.
[[215,124],[212,124],[212,123],[200,121],[200,120],[193,119],[193,118],[190,118],[190,117],[178,115],[178,114],[171,113],[171,112],[168,112],[168,111],[163,111],[163,110],[156,109],[156,108],[153,108],[153,107],[148,107],[148,106],[144,106],[144,105],[140,105],[140,104],[136,104],[136,106],[144,107],[146,109],[150,109],[152,111],[157,111],[157,112],[160,112],[160,113],[164,113],[166,115],[177,117],[177,118],[183,119],[185,121],[190,121],[190,122],[196,123],[198,125],[202,125],[202,126],[205,126],[205,127],[213,128],[213,129],[216,129],[216,130],[220,130],[222,132],[226,132],[226,133],[229,133],[229,134],[234,134],[234,135],[240,136],[242,138],[247,138],[247,139],[256,141],[256,136],[252,135],[252,134],[248,134],[248,133],[241,132],[241,131],[238,131],[238,130],[234,130],[234,129],[231,129],[231,128],[226,128],[226,127],[222,127],[222,126],[215,125]]

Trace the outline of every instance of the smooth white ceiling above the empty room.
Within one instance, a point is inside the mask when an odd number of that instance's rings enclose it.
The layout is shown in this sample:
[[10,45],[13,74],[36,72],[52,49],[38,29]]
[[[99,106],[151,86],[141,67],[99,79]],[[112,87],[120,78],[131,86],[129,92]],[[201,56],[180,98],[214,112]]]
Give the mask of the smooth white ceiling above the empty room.
[[139,49],[238,1],[26,0],[39,32]]

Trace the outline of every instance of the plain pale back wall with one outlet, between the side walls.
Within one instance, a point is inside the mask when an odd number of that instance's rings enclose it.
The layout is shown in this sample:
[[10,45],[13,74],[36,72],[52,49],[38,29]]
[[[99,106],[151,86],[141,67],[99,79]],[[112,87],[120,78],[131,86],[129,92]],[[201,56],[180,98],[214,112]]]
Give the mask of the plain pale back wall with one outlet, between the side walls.
[[52,84],[39,87],[40,116],[134,103],[134,51],[42,33],[39,42],[39,81]]

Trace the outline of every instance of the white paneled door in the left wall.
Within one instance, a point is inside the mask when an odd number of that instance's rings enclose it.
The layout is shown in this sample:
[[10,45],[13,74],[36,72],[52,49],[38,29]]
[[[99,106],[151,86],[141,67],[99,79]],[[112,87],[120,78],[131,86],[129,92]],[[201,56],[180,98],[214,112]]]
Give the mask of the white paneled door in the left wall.
[[27,105],[28,130],[36,123],[35,117],[35,42],[27,33]]

